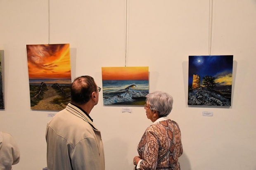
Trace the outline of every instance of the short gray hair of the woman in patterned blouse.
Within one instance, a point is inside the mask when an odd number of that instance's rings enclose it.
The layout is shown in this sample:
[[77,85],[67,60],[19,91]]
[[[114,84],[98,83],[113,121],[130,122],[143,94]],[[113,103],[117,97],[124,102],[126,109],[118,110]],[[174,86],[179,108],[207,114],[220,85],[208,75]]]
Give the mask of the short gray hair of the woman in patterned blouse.
[[149,103],[151,110],[158,111],[159,117],[165,117],[173,109],[173,97],[161,91],[152,92],[146,95],[146,102]]

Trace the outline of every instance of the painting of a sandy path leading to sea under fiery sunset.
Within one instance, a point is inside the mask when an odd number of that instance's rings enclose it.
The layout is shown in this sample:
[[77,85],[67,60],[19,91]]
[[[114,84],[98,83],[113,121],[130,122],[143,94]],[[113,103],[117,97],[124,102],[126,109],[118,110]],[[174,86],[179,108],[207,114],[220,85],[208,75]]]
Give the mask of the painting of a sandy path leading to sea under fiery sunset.
[[62,110],[70,102],[69,44],[26,45],[31,109]]

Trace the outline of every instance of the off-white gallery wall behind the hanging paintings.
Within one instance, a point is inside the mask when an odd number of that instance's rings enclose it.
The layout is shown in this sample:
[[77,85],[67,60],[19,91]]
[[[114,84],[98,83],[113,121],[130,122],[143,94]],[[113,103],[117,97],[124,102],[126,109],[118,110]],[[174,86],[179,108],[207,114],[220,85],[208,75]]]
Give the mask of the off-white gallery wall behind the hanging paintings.
[[[46,167],[51,110],[31,110],[26,44],[70,44],[71,75],[102,87],[101,67],[149,66],[149,92],[173,96],[182,170],[256,170],[256,0],[213,0],[211,55],[234,55],[232,106],[188,106],[188,56],[209,55],[209,0],[0,0],[5,109],[0,131],[17,140],[14,170]],[[126,10],[127,9],[127,10]],[[50,15],[49,15],[50,14]],[[126,15],[127,14],[127,15]],[[126,106],[123,106],[126,107]],[[102,132],[106,170],[131,170],[151,125],[142,106],[90,113]],[[202,116],[203,111],[213,116]]]

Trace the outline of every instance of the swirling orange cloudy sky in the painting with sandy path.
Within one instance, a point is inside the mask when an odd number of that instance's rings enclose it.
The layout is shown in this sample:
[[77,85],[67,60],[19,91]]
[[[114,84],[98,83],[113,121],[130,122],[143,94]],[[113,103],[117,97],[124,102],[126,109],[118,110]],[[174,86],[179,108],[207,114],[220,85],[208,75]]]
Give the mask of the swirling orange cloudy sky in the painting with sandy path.
[[29,79],[71,79],[69,44],[26,47]]

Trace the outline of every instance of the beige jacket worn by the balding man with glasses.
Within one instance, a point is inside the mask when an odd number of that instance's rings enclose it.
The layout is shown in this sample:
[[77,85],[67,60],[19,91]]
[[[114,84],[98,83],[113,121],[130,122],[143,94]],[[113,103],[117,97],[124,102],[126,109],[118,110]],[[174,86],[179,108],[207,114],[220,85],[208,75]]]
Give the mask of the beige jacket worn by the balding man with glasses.
[[48,170],[104,170],[100,131],[82,110],[69,103],[47,124]]

